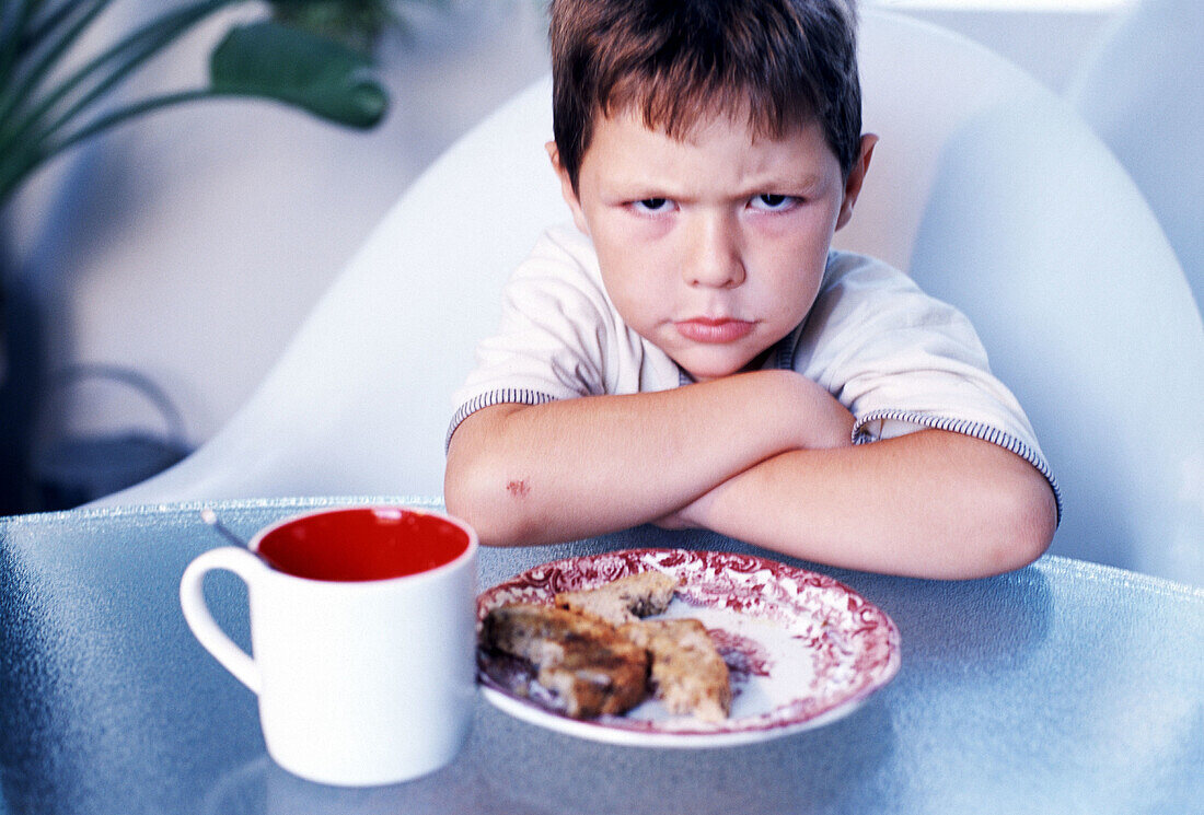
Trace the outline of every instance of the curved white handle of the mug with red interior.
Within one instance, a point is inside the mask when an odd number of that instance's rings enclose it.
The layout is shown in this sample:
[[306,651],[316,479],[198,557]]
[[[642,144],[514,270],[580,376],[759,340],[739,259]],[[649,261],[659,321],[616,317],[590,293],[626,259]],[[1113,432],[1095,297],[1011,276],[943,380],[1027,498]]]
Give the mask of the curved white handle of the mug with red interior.
[[179,579],[179,606],[184,610],[188,627],[196,634],[201,645],[232,673],[243,685],[256,695],[260,689],[259,666],[247,651],[235,645],[234,640],[218,626],[209,607],[205,602],[205,574],[213,569],[234,572],[248,586],[267,571],[264,561],[246,549],[220,547],[200,555],[184,569]]

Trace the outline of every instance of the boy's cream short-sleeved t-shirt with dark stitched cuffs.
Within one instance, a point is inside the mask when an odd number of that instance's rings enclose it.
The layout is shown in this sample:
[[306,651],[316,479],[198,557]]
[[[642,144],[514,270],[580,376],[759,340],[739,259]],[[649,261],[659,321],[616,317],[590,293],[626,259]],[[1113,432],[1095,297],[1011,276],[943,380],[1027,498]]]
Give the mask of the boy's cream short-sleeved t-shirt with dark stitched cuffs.
[[[991,374],[969,320],[879,260],[830,253],[810,313],[771,349],[765,367],[791,368],[824,386],[852,413],[855,443],[925,427],[964,433],[1023,457],[1058,495],[1028,418]],[[689,383],[619,317],[589,238],[556,228],[510,277],[501,327],[477,347],[477,367],[453,396],[448,441],[461,421],[491,404]]]

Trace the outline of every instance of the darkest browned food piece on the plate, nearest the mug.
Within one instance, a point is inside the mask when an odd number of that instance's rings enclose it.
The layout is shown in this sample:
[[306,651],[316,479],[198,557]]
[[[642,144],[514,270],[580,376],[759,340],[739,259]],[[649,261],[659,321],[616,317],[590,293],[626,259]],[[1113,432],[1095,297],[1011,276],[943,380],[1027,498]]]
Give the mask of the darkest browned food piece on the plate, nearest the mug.
[[647,692],[648,651],[602,620],[536,603],[510,603],[484,619],[482,645],[535,667],[550,704],[573,719],[619,715]]

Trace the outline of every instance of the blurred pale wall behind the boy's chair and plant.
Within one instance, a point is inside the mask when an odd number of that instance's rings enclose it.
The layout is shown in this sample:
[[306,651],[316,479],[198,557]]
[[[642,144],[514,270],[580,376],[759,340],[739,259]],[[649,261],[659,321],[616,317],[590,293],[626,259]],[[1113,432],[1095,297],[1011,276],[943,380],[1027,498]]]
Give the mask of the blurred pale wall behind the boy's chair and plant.
[[[123,13],[137,14],[138,2],[159,0],[126,2]],[[1061,91],[1127,2],[873,5],[960,31]],[[212,436],[406,185],[547,70],[539,0],[449,0],[414,22],[383,46],[393,105],[373,131],[270,104],[205,102],[98,140],[26,188],[0,229],[52,303],[52,368],[135,370],[178,408],[190,445]],[[209,29],[160,60],[153,82],[199,81],[220,20]],[[449,190],[488,194],[485,178]],[[164,424],[112,383],[72,388],[52,404],[49,438]]]

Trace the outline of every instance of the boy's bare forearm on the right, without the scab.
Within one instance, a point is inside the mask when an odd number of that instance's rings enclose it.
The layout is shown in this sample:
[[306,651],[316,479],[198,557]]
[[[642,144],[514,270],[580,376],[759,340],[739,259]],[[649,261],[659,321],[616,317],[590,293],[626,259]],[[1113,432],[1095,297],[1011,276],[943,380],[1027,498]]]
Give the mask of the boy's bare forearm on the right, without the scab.
[[942,431],[785,453],[689,509],[694,524],[804,560],[926,578],[976,578],[1049,547],[1045,478],[988,442]]

